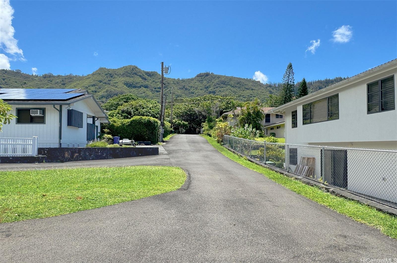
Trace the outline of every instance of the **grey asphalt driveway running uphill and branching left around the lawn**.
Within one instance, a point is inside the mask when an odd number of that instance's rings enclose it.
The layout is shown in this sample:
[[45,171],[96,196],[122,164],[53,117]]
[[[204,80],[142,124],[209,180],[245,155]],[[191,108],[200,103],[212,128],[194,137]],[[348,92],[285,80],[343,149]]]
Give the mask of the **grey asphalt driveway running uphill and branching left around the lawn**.
[[104,208],[0,224],[0,262],[360,262],[397,241],[175,135],[168,154],[1,169],[172,165],[189,187]]

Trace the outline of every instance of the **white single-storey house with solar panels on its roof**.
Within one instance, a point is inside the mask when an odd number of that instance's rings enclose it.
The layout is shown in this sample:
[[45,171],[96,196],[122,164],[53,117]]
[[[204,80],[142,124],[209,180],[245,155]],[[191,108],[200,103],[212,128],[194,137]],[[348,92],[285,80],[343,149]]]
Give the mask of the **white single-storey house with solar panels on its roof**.
[[93,95],[76,89],[0,89],[17,116],[0,137],[38,137],[38,147],[84,147],[108,116]]

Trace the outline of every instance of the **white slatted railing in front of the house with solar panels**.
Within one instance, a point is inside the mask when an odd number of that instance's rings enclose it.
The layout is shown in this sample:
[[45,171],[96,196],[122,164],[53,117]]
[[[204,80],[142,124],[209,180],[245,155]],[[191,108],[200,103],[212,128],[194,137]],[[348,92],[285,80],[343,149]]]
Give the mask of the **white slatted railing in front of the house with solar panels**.
[[0,138],[0,156],[36,156],[37,136],[33,138]]

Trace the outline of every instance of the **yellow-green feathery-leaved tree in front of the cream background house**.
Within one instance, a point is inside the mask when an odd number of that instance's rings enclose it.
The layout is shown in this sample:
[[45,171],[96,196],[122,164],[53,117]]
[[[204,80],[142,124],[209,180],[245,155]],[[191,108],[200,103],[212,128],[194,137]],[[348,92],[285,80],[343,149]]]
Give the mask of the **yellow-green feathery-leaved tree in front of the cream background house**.
[[256,130],[261,130],[262,124],[260,124],[260,122],[262,122],[265,117],[261,106],[258,99],[246,102],[241,109],[241,115],[238,119],[239,126],[244,127],[245,125],[249,125]]

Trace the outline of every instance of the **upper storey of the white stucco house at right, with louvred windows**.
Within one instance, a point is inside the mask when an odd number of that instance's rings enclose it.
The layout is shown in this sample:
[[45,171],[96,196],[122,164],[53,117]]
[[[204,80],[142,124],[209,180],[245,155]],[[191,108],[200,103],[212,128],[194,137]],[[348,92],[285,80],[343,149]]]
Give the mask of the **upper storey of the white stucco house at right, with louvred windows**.
[[271,110],[285,142],[397,149],[397,59]]

